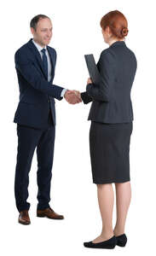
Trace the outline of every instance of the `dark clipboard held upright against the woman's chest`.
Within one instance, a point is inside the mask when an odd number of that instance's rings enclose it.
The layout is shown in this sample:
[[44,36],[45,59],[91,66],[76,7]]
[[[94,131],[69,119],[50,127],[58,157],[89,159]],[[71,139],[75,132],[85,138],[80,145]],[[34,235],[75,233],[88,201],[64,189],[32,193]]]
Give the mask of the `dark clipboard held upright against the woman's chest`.
[[93,81],[93,84],[98,85],[101,81],[101,74],[96,67],[94,55],[84,55],[84,58],[90,74],[90,79]]

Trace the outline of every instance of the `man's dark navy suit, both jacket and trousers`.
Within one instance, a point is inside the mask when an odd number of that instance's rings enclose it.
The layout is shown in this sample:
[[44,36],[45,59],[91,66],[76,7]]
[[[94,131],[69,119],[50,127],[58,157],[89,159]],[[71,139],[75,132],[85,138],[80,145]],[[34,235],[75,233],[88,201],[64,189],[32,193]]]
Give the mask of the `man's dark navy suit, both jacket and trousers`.
[[20,102],[14,115],[17,123],[18,152],[14,193],[18,211],[28,210],[29,172],[37,148],[38,209],[49,207],[50,181],[55,144],[55,98],[61,100],[64,89],[52,84],[55,76],[55,49],[47,46],[51,62],[51,80],[44,73],[41,55],[32,38],[14,55]]

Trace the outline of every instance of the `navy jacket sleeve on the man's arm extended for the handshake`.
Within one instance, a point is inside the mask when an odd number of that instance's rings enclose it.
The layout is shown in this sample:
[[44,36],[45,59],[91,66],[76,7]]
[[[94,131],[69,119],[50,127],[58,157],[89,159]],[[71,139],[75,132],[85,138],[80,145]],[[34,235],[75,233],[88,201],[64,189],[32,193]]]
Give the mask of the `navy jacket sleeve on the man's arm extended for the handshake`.
[[26,54],[20,50],[16,51],[14,55],[15,68],[19,70],[20,74],[26,81],[32,85],[36,90],[40,90],[49,96],[61,100],[61,91],[64,89],[55,84],[51,84],[38,72],[38,68],[34,66],[33,61],[26,57]]

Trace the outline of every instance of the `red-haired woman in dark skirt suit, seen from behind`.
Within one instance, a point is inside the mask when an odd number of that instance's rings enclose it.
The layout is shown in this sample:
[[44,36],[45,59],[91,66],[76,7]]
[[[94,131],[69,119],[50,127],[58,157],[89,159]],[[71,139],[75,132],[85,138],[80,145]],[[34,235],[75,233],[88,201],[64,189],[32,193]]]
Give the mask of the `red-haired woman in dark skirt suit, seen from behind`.
[[[101,52],[97,63],[101,83],[88,79],[83,102],[90,108],[90,158],[93,183],[101,211],[101,235],[84,247],[124,247],[125,220],[130,206],[130,135],[133,129],[133,110],[130,90],[136,75],[136,56],[127,48],[127,20],[118,10],[101,19],[104,41],[109,45]],[[113,186],[115,183],[117,221],[113,229]]]

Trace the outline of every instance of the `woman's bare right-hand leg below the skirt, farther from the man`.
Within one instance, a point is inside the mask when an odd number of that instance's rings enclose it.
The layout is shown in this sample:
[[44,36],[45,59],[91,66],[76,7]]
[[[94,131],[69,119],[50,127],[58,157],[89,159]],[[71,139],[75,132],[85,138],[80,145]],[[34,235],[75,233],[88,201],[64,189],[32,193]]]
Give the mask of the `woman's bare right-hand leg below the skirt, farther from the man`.
[[124,234],[124,225],[127,212],[130,206],[131,188],[130,182],[115,183],[116,189],[116,205],[117,205],[117,221],[114,227],[114,235]]

